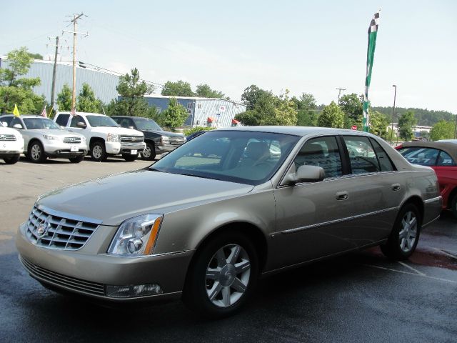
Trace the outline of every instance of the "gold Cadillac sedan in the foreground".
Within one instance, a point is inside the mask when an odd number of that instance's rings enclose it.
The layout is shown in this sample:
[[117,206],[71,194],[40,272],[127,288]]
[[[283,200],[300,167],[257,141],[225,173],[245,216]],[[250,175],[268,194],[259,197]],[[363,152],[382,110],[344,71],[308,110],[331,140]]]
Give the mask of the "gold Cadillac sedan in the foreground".
[[236,127],[44,194],[16,246],[45,287],[112,302],[181,297],[222,317],[262,275],[376,245],[407,259],[440,211],[433,170],[373,134]]

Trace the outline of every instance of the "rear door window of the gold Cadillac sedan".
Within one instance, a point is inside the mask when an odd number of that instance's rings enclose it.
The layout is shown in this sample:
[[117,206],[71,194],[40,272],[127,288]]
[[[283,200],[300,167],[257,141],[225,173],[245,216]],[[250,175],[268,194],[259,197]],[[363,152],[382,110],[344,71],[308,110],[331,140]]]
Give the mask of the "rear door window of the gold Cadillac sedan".
[[343,136],[351,161],[351,174],[381,172],[378,158],[368,137]]

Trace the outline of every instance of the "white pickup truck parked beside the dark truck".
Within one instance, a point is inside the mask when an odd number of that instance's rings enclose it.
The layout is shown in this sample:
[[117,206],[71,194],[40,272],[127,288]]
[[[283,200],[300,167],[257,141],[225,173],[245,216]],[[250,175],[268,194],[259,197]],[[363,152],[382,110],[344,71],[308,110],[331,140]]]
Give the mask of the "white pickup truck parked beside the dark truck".
[[126,161],[134,161],[146,146],[142,132],[119,127],[116,121],[104,114],[58,112],[54,121],[69,131],[84,135],[94,161],[105,161],[109,155],[119,154]]

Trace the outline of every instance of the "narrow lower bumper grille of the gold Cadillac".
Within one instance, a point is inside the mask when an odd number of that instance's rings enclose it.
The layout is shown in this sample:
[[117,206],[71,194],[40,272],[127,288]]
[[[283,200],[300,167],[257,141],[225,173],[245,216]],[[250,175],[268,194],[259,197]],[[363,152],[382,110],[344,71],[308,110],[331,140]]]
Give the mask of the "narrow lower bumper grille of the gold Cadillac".
[[36,264],[27,261],[23,257],[19,257],[19,259],[26,271],[36,279],[66,287],[67,289],[71,289],[76,292],[84,292],[94,295],[105,295],[105,287],[103,284],[76,279],[74,277],[67,277],[64,274],[51,272],[48,269],[41,268]]

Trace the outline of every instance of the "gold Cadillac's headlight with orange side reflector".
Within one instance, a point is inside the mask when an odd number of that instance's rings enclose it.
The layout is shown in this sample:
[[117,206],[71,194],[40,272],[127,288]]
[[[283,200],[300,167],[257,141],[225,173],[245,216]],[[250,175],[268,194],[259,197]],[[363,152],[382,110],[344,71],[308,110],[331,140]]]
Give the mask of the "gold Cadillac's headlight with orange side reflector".
[[163,218],[162,214],[144,214],[127,219],[114,235],[108,254],[127,257],[152,254]]

